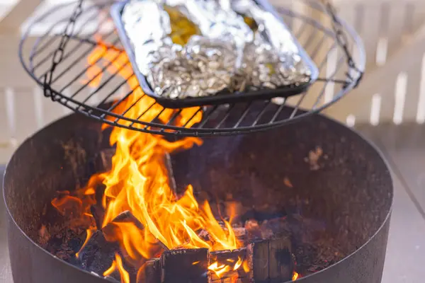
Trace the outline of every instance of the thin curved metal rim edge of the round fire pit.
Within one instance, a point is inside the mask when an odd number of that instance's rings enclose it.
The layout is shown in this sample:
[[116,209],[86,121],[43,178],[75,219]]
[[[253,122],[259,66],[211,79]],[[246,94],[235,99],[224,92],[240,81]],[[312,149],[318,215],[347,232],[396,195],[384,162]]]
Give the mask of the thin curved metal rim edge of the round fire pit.
[[[43,127],[42,129],[38,130],[38,132],[35,132],[34,134],[32,134],[30,137],[28,137],[25,141],[23,141],[23,143],[18,146],[18,148],[16,149],[16,151],[13,153],[13,155],[11,156],[11,158],[9,159],[8,163],[6,163],[6,168],[4,170],[4,177],[6,176],[6,173],[8,171],[8,165],[11,162],[11,159],[13,158],[13,156],[15,156],[16,152],[21,148],[21,146],[23,146],[23,144],[26,144],[27,142],[30,142],[35,136],[37,136],[38,134],[40,134],[41,132],[44,132],[45,129],[47,129],[48,127],[52,127],[53,125],[62,122],[62,120],[67,120],[70,117],[73,117],[74,115],[78,115],[77,113],[72,113],[70,115],[64,116],[58,120],[55,120],[53,122],[51,122],[49,125]],[[385,155],[382,154],[381,149],[378,148],[378,146],[376,146],[373,142],[371,142],[369,139],[365,138],[363,134],[361,134],[360,132],[358,132],[358,130],[353,129],[353,128],[348,128],[346,127],[344,124],[342,124],[341,122],[334,120],[333,118],[330,117],[326,117],[324,115],[317,115],[319,116],[320,119],[324,119],[324,120],[328,120],[329,122],[333,123],[334,125],[336,125],[337,127],[344,127],[346,129],[348,129],[352,134],[355,134],[357,137],[359,137],[362,141],[364,141],[365,144],[368,144],[368,146],[370,146],[375,152],[376,154],[378,154],[380,161],[382,161],[385,165],[385,167],[387,168],[387,173],[390,176],[390,186],[392,187],[391,191],[390,191],[390,207],[388,209],[387,215],[385,216],[385,219],[382,221],[382,224],[380,225],[380,227],[377,229],[377,231],[375,231],[375,233],[373,233],[372,236],[370,236],[370,238],[368,239],[368,241],[365,241],[365,243],[363,243],[362,246],[360,246],[358,249],[356,249],[355,251],[353,251],[353,253],[350,253],[349,255],[347,255],[345,258],[343,258],[342,260],[339,260],[339,262],[336,262],[334,265],[329,265],[329,267],[324,268],[323,270],[320,270],[318,272],[314,272],[311,275],[307,275],[306,277],[302,277],[300,279],[297,279],[297,282],[305,282],[308,279],[310,279],[310,277],[312,277],[313,275],[319,275],[321,273],[327,272],[328,270],[330,270],[331,268],[337,267],[339,265],[341,265],[342,263],[346,262],[347,260],[350,260],[351,257],[353,257],[353,255],[355,255],[356,253],[358,253],[359,251],[363,250],[365,248],[365,246],[368,246],[368,244],[370,243],[370,241],[373,241],[373,239],[375,238],[375,236],[378,235],[378,233],[380,233],[382,231],[382,229],[384,229],[384,227],[388,224],[388,221],[390,221],[390,216],[392,214],[392,209],[393,209],[393,204],[394,204],[394,189],[393,189],[393,185],[394,185],[394,179],[392,177],[392,170],[390,169],[390,164],[387,161],[387,159],[385,158]],[[16,223],[15,219],[13,218],[8,204],[6,202],[6,194],[5,194],[5,180],[6,178],[3,178],[3,202],[5,204],[6,207],[6,212],[7,212],[7,216],[10,217],[11,221],[13,221],[13,224],[16,226],[16,228],[23,234],[23,236],[31,243],[33,244],[36,248],[42,250],[43,253],[45,253],[47,256],[50,256],[52,259],[54,260],[60,260],[60,262],[64,263],[65,265],[72,267],[74,270],[76,270],[77,272],[84,272],[87,275],[90,275],[96,279],[103,279],[105,280],[105,282],[110,282],[110,280],[102,277],[101,275],[96,276],[94,274],[94,272],[89,272],[87,270],[81,269],[75,265],[72,265],[69,262],[66,262],[60,258],[57,258],[55,255],[52,255],[51,253],[49,253],[47,250],[43,249],[42,247],[40,247],[38,245],[38,243],[35,243],[35,241],[33,241],[33,239],[31,239],[26,233],[24,233],[24,231],[21,229],[21,227]],[[282,282],[282,283],[289,283],[292,281],[288,281],[288,282]]]

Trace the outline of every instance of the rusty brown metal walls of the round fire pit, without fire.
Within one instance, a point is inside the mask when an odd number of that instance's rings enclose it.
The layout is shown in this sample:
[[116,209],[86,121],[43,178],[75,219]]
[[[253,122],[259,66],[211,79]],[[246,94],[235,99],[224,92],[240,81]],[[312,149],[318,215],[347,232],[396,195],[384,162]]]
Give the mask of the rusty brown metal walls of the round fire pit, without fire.
[[[100,123],[70,115],[13,155],[4,199],[15,283],[106,282],[41,248],[40,229],[56,217],[49,209],[55,192],[84,186],[94,173],[87,164],[108,146]],[[203,146],[173,156],[173,167],[179,187],[191,183],[217,195],[231,192],[255,207],[296,209],[322,223],[345,257],[299,282],[381,281],[392,180],[378,151],[351,129],[313,115],[267,132],[204,139]]]

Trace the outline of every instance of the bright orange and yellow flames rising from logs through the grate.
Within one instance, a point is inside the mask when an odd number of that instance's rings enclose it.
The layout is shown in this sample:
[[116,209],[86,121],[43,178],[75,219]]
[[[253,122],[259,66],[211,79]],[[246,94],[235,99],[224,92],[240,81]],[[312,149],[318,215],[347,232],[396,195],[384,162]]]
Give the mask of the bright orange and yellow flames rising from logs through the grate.
[[[174,125],[180,127],[191,127],[202,119],[199,108],[187,108],[176,112],[163,108],[156,104],[153,98],[145,96],[125,52],[100,45],[89,55],[87,61],[90,66],[87,71],[87,83],[91,86],[101,83],[104,75],[102,69],[96,66],[99,62],[109,73],[118,74],[128,81],[132,94],[116,106],[114,109],[116,114],[142,122],[152,120],[168,122],[173,117]],[[107,119],[115,120],[115,117]],[[131,122],[124,124],[128,126]],[[108,125],[103,125],[103,129],[106,127]],[[132,127],[145,126],[135,123]],[[92,176],[82,197],[94,200],[96,184],[101,182],[106,186],[103,195],[106,214],[102,227],[97,228],[103,229],[108,241],[117,241],[120,244],[126,262],[142,269],[146,260],[158,257],[166,249],[234,250],[242,246],[232,229],[232,215],[229,221],[222,219],[224,223],[222,226],[212,214],[208,202],[198,203],[191,185],[186,188],[183,195],[176,195],[170,185],[165,163],[167,156],[176,151],[190,149],[192,146],[200,146],[203,143],[201,139],[186,137],[178,141],[168,141],[159,135],[114,127],[110,143],[116,147],[111,171]],[[81,209],[83,203],[79,198],[66,197],[71,201],[69,202],[71,206],[63,197],[53,200],[52,204],[62,213],[69,209],[80,209],[86,216],[91,216],[89,209],[84,207]],[[127,210],[140,221],[142,229],[130,222],[113,222],[116,216]],[[91,229],[87,230],[84,245],[92,235]],[[201,229],[208,233],[208,240],[198,236]],[[237,262],[229,265],[213,262],[208,269],[220,277],[223,273],[237,270],[242,266],[245,270],[245,265],[242,259],[238,258]],[[120,272],[121,282],[129,282],[128,272],[125,271],[123,260],[118,254],[103,275],[111,275],[115,270]]]

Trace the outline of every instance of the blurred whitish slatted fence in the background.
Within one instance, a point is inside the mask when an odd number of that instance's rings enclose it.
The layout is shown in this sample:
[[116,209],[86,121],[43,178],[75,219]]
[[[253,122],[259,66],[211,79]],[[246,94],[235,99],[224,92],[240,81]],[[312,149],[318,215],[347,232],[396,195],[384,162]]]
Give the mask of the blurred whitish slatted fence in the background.
[[[68,110],[42,96],[21,68],[17,55],[19,29],[26,18],[69,0],[0,0],[1,11],[13,15],[0,21],[0,163],[13,146]],[[288,4],[273,0],[273,4]],[[298,1],[290,1],[297,9]],[[23,4],[25,3],[25,4]],[[21,6],[19,6],[21,4]],[[339,15],[360,33],[368,67],[353,93],[325,113],[348,125],[356,123],[425,122],[425,1],[334,0]],[[38,7],[38,8],[35,8]],[[310,11],[300,11],[310,13]],[[6,13],[6,12],[4,12]],[[26,23],[23,23],[25,26]],[[43,25],[38,30],[43,30]],[[336,59],[328,58],[327,68]],[[327,93],[330,98],[333,93]]]

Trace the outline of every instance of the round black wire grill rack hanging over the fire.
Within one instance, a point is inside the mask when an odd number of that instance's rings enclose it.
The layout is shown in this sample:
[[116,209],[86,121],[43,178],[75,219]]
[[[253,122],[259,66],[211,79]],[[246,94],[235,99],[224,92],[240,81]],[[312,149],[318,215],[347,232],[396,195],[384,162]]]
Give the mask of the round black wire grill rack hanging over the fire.
[[[191,115],[180,123],[176,123],[179,115],[187,110],[163,108],[143,94],[135,97],[137,88],[129,84],[134,75],[123,75],[130,63],[109,16],[113,1],[55,6],[28,25],[19,56],[47,98],[108,125],[197,137],[256,132],[329,107],[355,88],[363,76],[363,43],[330,4],[302,0],[288,3],[288,7],[277,10],[316,62],[319,79],[308,91],[287,99],[192,108]],[[50,28],[34,36],[37,27],[46,23]],[[147,101],[149,105],[140,105]],[[128,115],[136,107],[143,111],[139,110],[137,117]],[[193,122],[200,115],[202,120]]]

